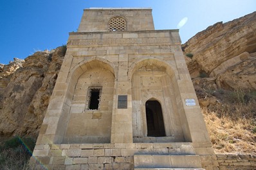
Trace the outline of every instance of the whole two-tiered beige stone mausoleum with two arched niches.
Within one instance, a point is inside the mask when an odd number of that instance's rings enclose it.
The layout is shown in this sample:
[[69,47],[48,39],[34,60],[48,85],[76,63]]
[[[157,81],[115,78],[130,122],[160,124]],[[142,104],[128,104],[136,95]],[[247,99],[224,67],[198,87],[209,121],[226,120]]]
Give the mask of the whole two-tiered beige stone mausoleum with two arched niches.
[[67,47],[32,164],[212,169],[178,30],[154,30],[151,8],[89,8]]

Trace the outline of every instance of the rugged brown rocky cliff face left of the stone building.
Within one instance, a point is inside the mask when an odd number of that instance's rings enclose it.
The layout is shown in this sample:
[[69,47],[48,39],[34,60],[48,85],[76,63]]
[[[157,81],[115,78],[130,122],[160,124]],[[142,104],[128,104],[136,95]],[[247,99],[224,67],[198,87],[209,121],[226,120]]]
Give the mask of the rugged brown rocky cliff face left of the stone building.
[[0,135],[36,136],[66,47],[0,66]]

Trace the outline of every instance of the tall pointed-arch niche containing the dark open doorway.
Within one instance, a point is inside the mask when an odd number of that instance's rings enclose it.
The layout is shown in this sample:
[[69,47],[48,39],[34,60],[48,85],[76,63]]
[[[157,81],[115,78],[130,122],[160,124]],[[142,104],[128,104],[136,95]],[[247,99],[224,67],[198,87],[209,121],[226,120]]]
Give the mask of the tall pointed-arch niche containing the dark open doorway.
[[184,142],[174,71],[148,59],[133,68],[133,142]]

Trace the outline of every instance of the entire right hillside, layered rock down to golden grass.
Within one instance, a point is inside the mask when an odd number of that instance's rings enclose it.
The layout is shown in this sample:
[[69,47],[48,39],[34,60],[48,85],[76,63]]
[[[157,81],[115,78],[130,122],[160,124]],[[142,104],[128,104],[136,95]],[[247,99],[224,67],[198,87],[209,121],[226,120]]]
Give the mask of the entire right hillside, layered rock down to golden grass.
[[256,12],[182,48],[215,151],[256,153]]

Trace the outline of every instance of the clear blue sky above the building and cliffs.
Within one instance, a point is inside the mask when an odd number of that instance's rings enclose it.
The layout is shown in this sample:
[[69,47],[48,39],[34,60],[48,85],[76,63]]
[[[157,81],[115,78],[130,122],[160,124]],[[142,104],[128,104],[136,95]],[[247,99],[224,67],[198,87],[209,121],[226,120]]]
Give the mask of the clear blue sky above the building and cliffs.
[[[89,7],[151,7],[156,30],[179,28],[182,43],[215,22],[256,10],[255,0],[1,0],[0,63],[66,44]],[[181,22],[183,21],[183,22]]]

